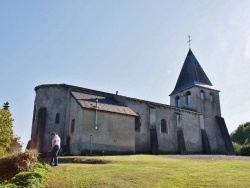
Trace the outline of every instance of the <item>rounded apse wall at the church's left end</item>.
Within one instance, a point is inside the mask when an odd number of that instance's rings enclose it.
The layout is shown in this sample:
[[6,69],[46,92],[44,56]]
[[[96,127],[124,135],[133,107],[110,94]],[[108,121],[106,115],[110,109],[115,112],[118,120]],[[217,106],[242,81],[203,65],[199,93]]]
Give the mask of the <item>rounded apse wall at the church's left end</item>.
[[[63,87],[39,87],[36,89],[34,118],[32,122],[31,138],[36,141],[39,152],[46,152],[51,147],[51,132],[56,132],[64,143],[64,129],[66,126],[66,109],[69,92]],[[38,112],[46,109],[45,127],[38,127]],[[59,122],[56,122],[56,114],[59,114]],[[43,133],[41,133],[43,130]],[[43,138],[38,135],[42,134]]]

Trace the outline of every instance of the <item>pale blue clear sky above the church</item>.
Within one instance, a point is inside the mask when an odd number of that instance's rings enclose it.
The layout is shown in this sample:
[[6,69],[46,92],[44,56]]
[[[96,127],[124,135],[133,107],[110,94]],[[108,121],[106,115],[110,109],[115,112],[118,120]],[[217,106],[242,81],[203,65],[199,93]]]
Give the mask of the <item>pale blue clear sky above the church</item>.
[[26,146],[41,84],[170,104],[188,35],[231,133],[250,121],[248,0],[1,0],[0,105]]

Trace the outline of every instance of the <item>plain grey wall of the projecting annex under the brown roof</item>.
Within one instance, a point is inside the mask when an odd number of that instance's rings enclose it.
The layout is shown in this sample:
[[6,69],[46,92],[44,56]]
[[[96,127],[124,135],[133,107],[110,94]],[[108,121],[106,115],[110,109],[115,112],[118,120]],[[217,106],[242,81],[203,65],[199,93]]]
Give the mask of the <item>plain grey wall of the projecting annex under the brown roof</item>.
[[70,153],[73,155],[99,153],[135,153],[134,116],[82,109],[71,99],[71,121],[75,119],[75,129],[70,128]]

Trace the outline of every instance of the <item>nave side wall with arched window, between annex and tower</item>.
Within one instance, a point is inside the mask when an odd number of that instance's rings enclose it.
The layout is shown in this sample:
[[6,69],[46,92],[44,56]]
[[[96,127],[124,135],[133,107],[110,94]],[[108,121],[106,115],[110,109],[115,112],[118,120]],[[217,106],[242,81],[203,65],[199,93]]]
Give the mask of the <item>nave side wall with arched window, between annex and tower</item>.
[[[136,131],[136,153],[152,153],[150,130],[156,129],[159,153],[178,153],[176,113],[181,114],[181,129],[188,153],[202,152],[199,113],[182,110],[168,105],[138,99],[115,96],[141,116],[140,131]],[[167,122],[167,133],[161,132],[161,120]]]

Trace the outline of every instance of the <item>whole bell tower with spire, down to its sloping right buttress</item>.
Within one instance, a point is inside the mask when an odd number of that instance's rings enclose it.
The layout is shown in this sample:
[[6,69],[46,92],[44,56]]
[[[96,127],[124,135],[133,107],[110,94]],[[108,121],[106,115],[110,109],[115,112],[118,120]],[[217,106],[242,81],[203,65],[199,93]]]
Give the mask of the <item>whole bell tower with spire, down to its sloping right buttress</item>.
[[[189,39],[188,42],[190,41]],[[204,153],[234,154],[225,121],[221,117],[219,92],[213,87],[189,48],[175,88],[170,94],[170,105],[200,114],[199,124]],[[178,116],[181,121],[181,114]],[[183,132],[182,130],[183,127],[180,127],[179,132]],[[185,140],[185,134],[182,135],[184,138],[178,140]]]

